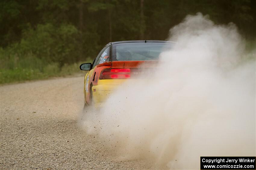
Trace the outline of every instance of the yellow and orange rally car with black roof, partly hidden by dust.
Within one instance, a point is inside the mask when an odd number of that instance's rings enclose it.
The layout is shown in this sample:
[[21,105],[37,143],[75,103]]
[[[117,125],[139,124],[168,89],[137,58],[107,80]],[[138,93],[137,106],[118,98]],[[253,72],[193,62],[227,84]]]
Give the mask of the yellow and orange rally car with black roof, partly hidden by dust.
[[154,68],[159,54],[173,42],[161,40],[117,41],[108,43],[93,63],[80,65],[84,77],[85,105],[101,106],[124,81],[136,81],[143,69]]

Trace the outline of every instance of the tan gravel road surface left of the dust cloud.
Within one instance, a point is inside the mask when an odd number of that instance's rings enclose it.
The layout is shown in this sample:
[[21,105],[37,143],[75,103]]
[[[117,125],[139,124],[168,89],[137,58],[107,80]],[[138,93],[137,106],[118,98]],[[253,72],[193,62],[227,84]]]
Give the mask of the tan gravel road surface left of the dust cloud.
[[77,120],[83,77],[0,87],[0,169],[149,169],[145,160],[118,161]]

